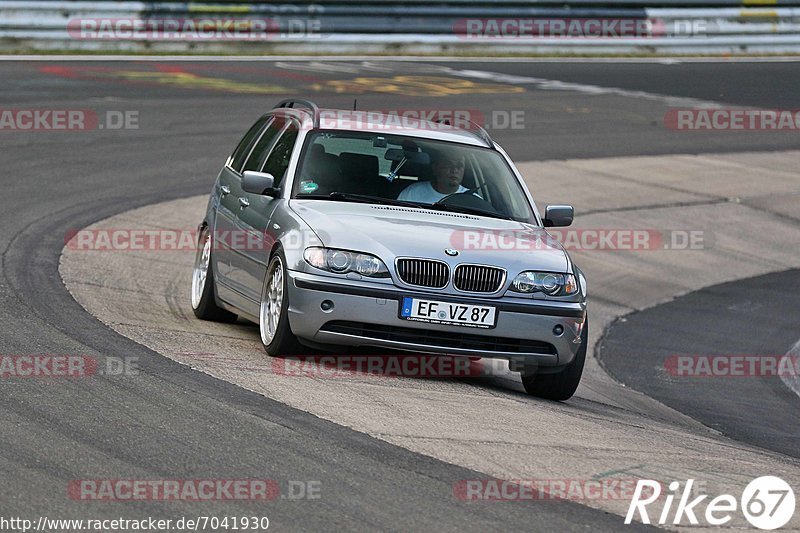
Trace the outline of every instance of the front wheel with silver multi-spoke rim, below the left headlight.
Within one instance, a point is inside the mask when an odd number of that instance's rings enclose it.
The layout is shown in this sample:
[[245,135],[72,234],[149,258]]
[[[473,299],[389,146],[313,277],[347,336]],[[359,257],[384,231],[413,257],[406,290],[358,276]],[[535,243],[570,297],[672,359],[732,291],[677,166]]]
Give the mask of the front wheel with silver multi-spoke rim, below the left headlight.
[[261,288],[258,329],[264,350],[272,357],[292,355],[300,350],[300,342],[289,327],[289,290],[286,257],[276,251],[267,267]]

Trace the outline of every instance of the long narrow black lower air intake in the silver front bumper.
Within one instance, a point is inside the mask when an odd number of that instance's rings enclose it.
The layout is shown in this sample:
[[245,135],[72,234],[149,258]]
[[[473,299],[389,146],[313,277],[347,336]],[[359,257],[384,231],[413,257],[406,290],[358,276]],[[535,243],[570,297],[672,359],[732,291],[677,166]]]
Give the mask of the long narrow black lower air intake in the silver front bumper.
[[449,331],[431,331],[427,329],[384,326],[379,324],[362,324],[360,322],[348,322],[344,320],[328,322],[322,326],[321,331],[343,333],[367,339],[436,346],[442,350],[462,349],[480,350],[483,352],[557,355],[555,346],[549,342],[471,335]]

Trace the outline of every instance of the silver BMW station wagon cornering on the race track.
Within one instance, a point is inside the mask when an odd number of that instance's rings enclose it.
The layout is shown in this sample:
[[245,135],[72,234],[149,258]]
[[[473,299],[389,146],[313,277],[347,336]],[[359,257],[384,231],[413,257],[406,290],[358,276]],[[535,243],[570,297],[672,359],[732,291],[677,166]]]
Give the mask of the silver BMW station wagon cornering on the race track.
[[[508,155],[477,125],[284,100],[247,131],[198,228],[191,303],[259,325],[271,356],[368,347],[509,361],[571,397],[586,279]],[[396,117],[395,117],[396,118]]]

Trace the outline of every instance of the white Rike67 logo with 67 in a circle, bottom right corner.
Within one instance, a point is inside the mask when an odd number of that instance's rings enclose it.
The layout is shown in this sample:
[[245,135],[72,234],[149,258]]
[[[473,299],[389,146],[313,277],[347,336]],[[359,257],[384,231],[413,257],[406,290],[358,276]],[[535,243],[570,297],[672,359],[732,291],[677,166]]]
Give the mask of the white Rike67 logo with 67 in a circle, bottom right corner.
[[[669,492],[663,497],[664,506],[658,515],[657,524],[664,525],[671,522],[678,525],[685,518],[689,524],[696,526],[700,523],[698,521],[700,517],[704,518],[708,525],[721,526],[729,523],[739,509],[753,527],[771,530],[783,527],[794,515],[794,491],[779,477],[762,476],[754,479],[742,491],[739,500],[730,494],[721,494],[707,502],[708,494],[700,494],[690,500],[689,498],[694,496],[693,485],[693,479],[686,481],[683,490],[678,481],[669,484]],[[658,481],[638,480],[625,516],[625,523],[630,524],[638,513],[642,523],[650,524],[647,507],[662,498],[662,490]],[[678,502],[673,512],[673,503],[676,499]],[[701,512],[703,507],[705,510]]]

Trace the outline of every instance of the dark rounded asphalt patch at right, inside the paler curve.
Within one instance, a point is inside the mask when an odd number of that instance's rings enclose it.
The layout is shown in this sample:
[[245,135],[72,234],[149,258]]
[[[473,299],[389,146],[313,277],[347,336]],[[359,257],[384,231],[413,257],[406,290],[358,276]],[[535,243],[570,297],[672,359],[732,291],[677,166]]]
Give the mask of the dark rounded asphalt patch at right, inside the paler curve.
[[[715,285],[615,322],[597,356],[621,382],[733,438],[800,457],[797,395],[777,375],[684,378],[670,357],[783,356],[800,334],[800,272]],[[665,335],[665,324],[671,334]]]

